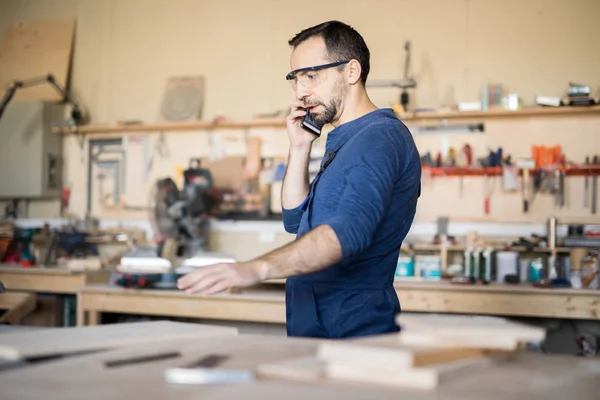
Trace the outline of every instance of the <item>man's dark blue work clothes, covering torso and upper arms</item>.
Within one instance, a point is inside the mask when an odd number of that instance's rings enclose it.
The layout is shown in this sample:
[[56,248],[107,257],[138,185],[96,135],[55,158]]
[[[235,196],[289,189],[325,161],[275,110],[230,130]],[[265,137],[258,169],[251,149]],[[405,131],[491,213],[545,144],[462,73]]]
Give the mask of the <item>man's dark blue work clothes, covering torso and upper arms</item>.
[[283,222],[297,237],[329,225],[342,260],[287,279],[288,334],[393,331],[400,311],[394,273],[421,193],[413,137],[393,110],[375,110],[329,133],[321,165],[303,204],[283,209]]

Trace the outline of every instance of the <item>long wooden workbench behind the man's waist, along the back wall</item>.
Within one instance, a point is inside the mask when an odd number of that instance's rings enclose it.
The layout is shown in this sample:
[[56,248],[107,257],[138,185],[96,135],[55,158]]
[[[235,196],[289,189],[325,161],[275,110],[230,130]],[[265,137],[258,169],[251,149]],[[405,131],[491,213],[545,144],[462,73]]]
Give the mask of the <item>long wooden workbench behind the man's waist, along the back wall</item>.
[[[88,285],[78,293],[77,324],[86,325],[86,314],[87,324],[97,324],[103,312],[284,324],[283,284],[275,282],[270,286],[201,297],[178,290]],[[600,319],[599,290],[404,281],[394,286],[402,311],[406,312]]]

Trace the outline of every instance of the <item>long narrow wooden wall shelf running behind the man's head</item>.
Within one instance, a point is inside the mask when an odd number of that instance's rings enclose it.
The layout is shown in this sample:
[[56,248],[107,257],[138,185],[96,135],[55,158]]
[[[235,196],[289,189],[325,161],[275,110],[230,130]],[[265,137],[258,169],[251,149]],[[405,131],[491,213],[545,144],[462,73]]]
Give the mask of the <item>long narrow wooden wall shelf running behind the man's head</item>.
[[[600,106],[587,107],[532,107],[517,111],[488,110],[488,111],[428,111],[398,115],[403,121],[426,121],[440,119],[486,119],[532,116],[570,116],[578,114],[600,114]],[[165,122],[116,125],[83,125],[79,127],[56,127],[57,134],[102,134],[102,136],[120,135],[131,132],[161,133],[168,131],[193,132],[199,130],[217,129],[251,129],[251,128],[285,128],[283,118],[261,118],[249,121],[194,121],[194,122]]]

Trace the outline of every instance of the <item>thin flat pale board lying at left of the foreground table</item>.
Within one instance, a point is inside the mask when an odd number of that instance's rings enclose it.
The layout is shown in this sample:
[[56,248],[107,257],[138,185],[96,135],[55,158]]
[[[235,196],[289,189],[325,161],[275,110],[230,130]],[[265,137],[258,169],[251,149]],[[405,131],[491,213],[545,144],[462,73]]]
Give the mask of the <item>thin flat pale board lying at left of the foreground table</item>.
[[0,337],[0,356],[9,359],[70,354],[174,339],[237,335],[237,328],[153,321],[7,333]]

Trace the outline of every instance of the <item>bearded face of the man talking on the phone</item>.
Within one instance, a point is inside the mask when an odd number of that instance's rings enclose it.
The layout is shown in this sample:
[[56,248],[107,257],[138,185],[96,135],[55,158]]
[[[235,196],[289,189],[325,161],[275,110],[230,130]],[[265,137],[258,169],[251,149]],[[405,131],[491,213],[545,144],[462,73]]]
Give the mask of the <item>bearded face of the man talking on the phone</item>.
[[[294,49],[290,59],[292,70],[329,63],[331,60],[326,58],[322,38],[310,38],[301,43]],[[298,75],[296,98],[304,101],[319,127],[335,122],[340,117],[349,90],[343,74],[335,67],[304,74],[305,79],[300,79],[300,74]],[[316,80],[314,84],[311,83],[313,79]]]

